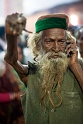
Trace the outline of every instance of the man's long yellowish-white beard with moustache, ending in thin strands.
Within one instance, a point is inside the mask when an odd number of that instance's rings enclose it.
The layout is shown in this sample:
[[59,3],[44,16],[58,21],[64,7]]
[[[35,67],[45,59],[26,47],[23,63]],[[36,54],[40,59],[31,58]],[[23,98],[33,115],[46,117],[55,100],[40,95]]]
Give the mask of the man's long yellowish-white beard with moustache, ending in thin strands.
[[[55,55],[58,55],[58,58],[53,58],[53,56]],[[67,56],[65,53],[62,52],[48,52],[40,57],[39,66],[40,74],[43,77],[41,102],[43,101],[45,103],[45,100],[48,96],[48,99],[51,102],[52,106],[54,108],[55,106],[58,107],[62,103],[60,90],[63,75],[68,67]],[[51,90],[54,85],[57,85],[56,95],[60,100],[57,105],[54,105],[53,100],[51,98]]]

